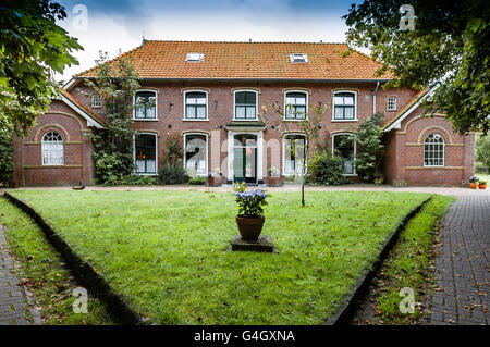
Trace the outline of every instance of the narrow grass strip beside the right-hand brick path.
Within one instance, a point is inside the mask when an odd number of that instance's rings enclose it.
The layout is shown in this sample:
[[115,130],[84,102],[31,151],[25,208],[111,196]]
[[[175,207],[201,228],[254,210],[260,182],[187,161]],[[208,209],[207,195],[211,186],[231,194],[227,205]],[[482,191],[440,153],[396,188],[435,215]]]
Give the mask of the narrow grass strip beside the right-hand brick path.
[[414,313],[400,311],[400,289],[409,287],[415,301],[422,303],[429,281],[429,260],[437,221],[448,211],[454,197],[433,196],[400,235],[400,240],[383,264],[378,278],[376,297],[377,319],[373,323],[412,324],[425,315],[424,305],[415,307]]

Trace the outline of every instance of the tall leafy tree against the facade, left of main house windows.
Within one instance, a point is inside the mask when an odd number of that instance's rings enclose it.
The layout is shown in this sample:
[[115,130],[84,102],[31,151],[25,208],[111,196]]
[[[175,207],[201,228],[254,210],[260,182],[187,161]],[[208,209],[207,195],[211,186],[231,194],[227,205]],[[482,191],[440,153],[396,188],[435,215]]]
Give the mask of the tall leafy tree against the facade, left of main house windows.
[[[117,184],[134,171],[132,129],[133,98],[139,89],[139,77],[133,62],[123,57],[109,62],[108,54],[100,52],[95,79],[85,84],[102,98],[107,127],[93,135],[96,176],[99,183]],[[147,104],[148,106],[148,104]]]

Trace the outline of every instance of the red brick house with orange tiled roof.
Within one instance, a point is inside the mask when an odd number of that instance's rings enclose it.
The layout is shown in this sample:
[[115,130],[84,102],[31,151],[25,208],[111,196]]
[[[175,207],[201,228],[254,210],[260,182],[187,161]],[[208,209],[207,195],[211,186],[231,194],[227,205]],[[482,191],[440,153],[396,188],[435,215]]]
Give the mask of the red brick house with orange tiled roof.
[[[432,89],[383,89],[390,72],[344,44],[150,41],[122,54],[135,62],[142,88],[134,110],[136,173],[158,174],[164,139],[177,134],[184,166],[223,183],[267,184],[270,169],[294,176],[305,137],[297,120],[329,104],[319,134],[344,158],[356,181],[356,145],[343,136],[367,116],[384,113],[384,175],[394,185],[461,185],[473,175],[474,134],[452,132],[443,114],[422,117]],[[119,58],[117,58],[119,59]],[[100,96],[74,76],[26,138],[14,138],[19,186],[94,184],[93,146],[86,136],[105,126]],[[91,95],[90,95],[91,92]],[[151,102],[147,102],[151,101]],[[289,131],[272,115],[279,104]],[[264,115],[261,108],[269,113]],[[262,114],[264,116],[260,116]],[[290,150],[291,141],[296,150]]]

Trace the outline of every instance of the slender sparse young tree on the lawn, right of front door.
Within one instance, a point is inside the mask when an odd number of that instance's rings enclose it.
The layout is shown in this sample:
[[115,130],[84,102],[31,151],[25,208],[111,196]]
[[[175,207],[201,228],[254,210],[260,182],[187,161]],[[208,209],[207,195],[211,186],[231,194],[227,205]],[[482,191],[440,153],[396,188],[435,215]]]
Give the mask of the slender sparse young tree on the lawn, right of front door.
[[[281,110],[278,103],[274,103],[272,107],[274,109],[275,122],[279,129],[283,128],[287,133],[291,133],[292,128],[294,127],[305,136],[304,153],[299,153],[299,158],[302,159],[302,207],[305,207],[305,174],[306,168],[308,165],[308,151],[311,142],[314,140],[318,140],[318,131],[321,128],[321,121],[323,120],[324,113],[328,110],[328,104],[310,106],[310,112],[303,114],[303,116],[295,122],[291,122],[284,116],[284,112]],[[291,106],[289,107],[289,110],[291,111]],[[268,113],[268,110],[265,106],[262,106],[262,112],[264,115],[259,115],[260,117],[266,116]],[[292,156],[297,158],[298,153],[296,153],[296,147],[294,145],[294,141],[290,141],[290,151]]]

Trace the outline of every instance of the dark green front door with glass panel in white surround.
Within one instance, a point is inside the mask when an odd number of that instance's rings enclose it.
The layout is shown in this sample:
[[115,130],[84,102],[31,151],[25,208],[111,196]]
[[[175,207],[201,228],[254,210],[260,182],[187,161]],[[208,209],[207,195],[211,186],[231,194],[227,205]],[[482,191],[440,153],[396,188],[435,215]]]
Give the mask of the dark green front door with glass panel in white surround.
[[233,182],[257,183],[257,136],[240,134],[233,138]]

